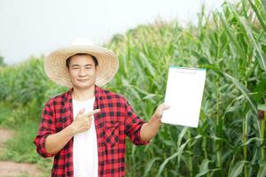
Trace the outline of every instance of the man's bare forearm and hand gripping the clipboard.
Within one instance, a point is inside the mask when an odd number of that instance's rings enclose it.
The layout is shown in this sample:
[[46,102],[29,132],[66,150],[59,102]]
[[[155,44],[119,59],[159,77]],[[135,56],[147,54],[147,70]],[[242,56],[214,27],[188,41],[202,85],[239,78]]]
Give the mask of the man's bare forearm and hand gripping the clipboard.
[[153,114],[152,118],[145,123],[140,129],[140,137],[144,142],[149,142],[159,131],[161,125],[161,116],[165,110],[168,110],[169,106],[166,104],[160,104]]

